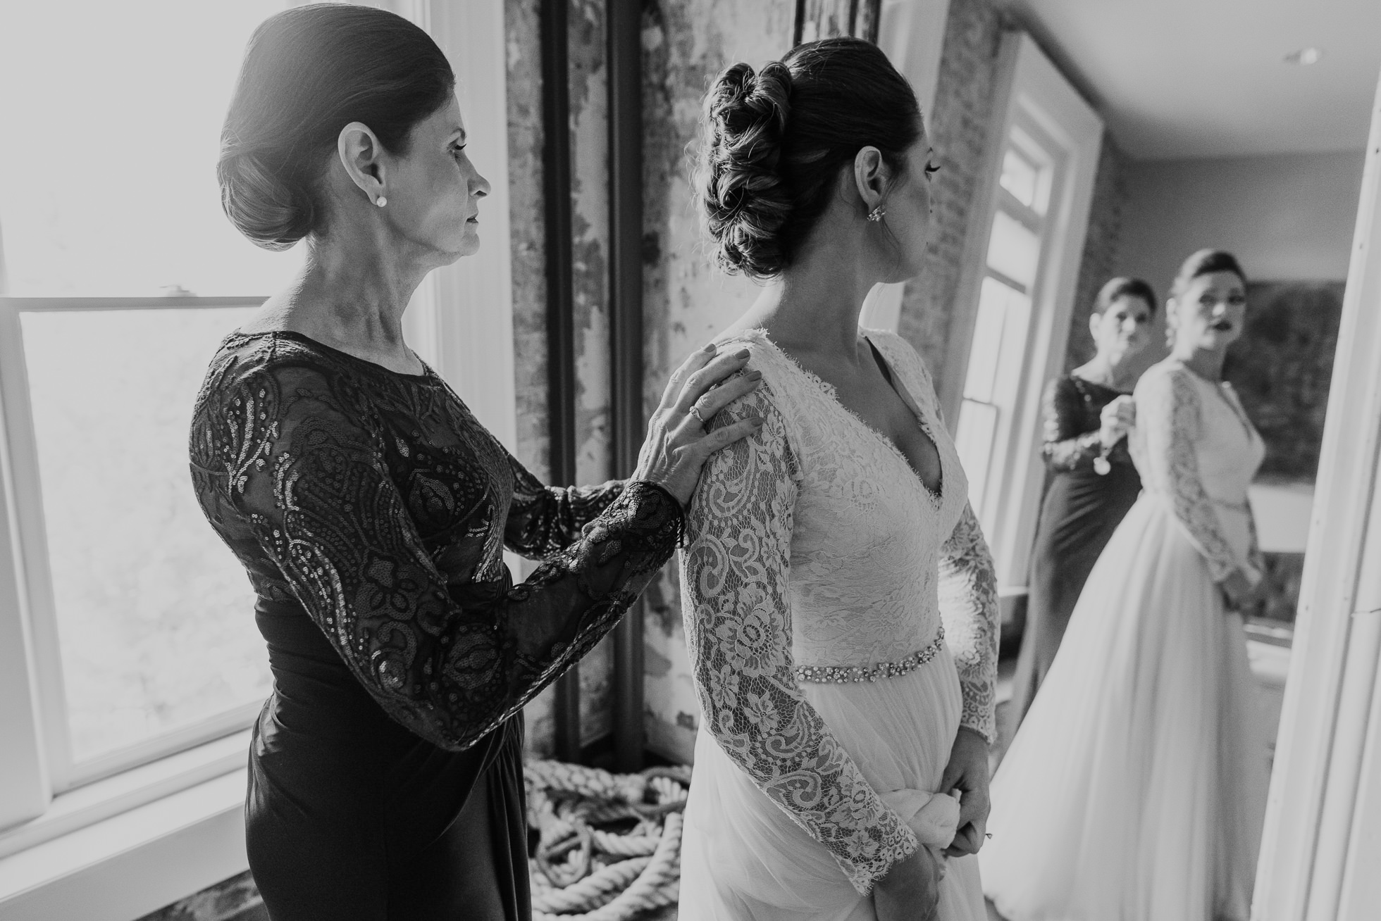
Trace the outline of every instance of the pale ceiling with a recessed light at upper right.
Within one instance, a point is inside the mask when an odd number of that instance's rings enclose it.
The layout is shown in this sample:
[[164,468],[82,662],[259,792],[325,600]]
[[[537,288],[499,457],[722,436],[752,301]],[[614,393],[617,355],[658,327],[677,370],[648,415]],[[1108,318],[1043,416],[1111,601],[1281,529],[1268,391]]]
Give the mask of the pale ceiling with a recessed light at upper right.
[[[1362,151],[1381,0],[997,0],[1132,157]],[[1319,47],[1313,65],[1284,55]]]

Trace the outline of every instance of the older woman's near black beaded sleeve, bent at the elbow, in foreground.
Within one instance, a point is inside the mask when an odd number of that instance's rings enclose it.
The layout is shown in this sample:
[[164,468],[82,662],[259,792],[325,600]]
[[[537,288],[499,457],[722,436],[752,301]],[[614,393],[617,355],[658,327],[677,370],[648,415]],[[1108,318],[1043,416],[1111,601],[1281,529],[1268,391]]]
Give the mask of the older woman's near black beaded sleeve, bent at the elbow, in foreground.
[[389,476],[367,392],[289,366],[254,371],[214,403],[199,406],[193,434],[226,445],[217,489],[359,684],[442,748],[463,750],[522,708],[675,551],[681,505],[632,483],[528,581],[447,584]]

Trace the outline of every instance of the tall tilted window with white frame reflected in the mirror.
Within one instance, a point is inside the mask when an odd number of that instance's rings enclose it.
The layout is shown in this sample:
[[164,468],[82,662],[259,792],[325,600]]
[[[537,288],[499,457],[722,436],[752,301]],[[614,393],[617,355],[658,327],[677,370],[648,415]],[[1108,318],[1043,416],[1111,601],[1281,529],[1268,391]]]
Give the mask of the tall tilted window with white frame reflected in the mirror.
[[[1043,471],[1040,395],[1063,363],[1102,123],[1029,36],[1003,44],[983,232],[968,243],[945,392],[1001,588],[1022,590]],[[971,300],[969,300],[971,298]]]

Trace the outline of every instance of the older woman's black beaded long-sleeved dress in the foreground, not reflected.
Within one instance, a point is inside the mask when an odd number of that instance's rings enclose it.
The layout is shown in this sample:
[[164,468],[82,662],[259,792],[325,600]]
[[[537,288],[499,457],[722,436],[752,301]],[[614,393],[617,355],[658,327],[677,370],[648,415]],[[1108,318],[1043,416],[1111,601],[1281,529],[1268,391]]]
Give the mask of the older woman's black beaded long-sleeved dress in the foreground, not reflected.
[[[670,559],[657,486],[543,486],[429,369],[232,334],[191,432],[257,592],[250,869],[273,921],[526,921],[522,706]],[[545,562],[522,584],[508,547]]]

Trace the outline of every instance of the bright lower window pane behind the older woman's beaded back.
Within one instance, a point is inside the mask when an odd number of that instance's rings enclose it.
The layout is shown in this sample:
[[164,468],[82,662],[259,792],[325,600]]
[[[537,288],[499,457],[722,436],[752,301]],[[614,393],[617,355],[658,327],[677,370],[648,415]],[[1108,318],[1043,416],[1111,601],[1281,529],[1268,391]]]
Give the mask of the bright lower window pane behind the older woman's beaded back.
[[23,313],[73,758],[268,692],[244,570],[192,494],[192,400],[253,308]]

